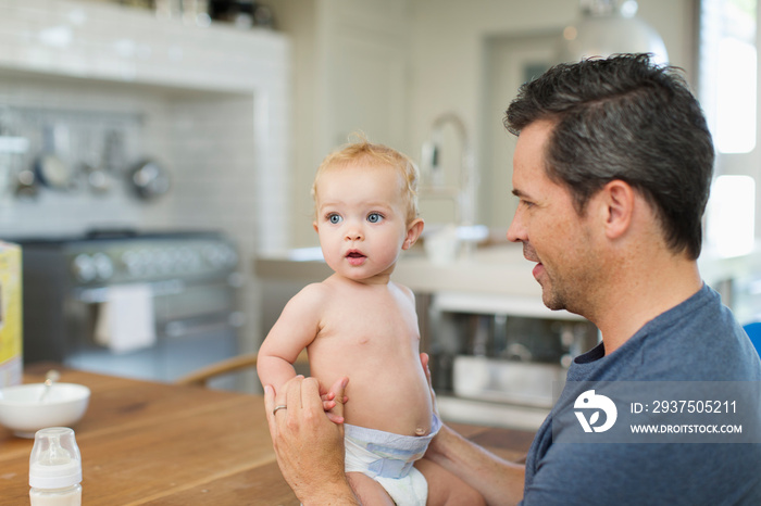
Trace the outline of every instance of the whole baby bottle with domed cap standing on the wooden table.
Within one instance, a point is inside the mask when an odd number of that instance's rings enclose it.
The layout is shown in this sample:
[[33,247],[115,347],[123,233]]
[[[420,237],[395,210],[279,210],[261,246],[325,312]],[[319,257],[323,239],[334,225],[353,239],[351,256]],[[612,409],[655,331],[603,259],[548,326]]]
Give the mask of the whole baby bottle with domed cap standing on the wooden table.
[[67,427],[38,430],[29,457],[32,506],[80,506],[82,457]]

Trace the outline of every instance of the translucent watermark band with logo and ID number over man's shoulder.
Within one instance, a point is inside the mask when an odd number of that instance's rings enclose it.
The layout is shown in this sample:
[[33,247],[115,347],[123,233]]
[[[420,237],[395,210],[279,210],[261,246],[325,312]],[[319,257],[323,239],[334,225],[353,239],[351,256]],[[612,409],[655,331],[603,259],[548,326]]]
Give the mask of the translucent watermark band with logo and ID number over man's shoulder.
[[761,443],[759,380],[565,381],[553,392],[553,443]]

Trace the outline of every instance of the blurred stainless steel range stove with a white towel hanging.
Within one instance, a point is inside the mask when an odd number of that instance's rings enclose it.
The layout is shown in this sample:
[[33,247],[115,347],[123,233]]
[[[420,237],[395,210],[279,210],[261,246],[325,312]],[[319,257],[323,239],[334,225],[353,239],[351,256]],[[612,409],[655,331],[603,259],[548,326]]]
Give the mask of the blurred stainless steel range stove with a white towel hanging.
[[27,364],[171,381],[238,353],[244,276],[223,232],[7,240],[23,252]]

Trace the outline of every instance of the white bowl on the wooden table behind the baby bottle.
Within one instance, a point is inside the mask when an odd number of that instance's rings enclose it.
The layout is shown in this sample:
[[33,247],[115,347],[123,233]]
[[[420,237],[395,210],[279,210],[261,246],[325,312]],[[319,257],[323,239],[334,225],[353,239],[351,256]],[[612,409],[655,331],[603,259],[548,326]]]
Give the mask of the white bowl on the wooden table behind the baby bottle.
[[46,427],[71,427],[82,419],[90,389],[76,383],[53,383],[43,401],[43,383],[0,389],[0,425],[21,438],[34,438]]

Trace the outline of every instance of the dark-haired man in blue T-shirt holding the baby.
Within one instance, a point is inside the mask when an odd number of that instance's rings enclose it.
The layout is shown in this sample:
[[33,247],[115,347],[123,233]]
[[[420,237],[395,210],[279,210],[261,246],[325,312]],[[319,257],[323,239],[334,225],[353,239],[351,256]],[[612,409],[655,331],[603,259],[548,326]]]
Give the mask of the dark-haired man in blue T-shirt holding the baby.
[[[519,135],[508,238],[536,263],[545,304],[585,316],[602,342],[569,369],[525,466],[447,427],[426,458],[488,504],[761,504],[761,444],[564,443],[571,429],[553,427],[584,382],[761,381],[748,338],[698,271],[713,148],[682,78],[641,54],[558,65],[521,88],[506,126]],[[316,385],[285,390],[288,418],[269,415],[284,476],[307,505],[357,504],[324,465],[340,460],[339,430],[319,413]],[[271,412],[272,389],[265,402]]]

